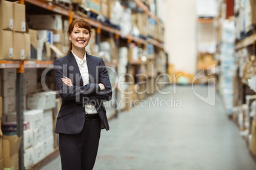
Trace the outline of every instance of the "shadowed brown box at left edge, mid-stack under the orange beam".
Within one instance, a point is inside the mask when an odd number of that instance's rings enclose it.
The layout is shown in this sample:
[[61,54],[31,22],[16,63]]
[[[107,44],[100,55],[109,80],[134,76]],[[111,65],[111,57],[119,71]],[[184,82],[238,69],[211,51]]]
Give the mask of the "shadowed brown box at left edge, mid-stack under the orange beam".
[[16,95],[16,81],[1,81],[1,96],[15,96]]

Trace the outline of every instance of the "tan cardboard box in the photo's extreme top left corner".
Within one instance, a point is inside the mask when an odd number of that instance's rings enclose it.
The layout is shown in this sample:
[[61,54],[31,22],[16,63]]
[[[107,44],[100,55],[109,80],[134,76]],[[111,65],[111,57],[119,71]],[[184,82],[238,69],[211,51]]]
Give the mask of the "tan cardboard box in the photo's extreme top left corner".
[[1,29],[13,30],[13,3],[10,1],[0,1],[0,30]]

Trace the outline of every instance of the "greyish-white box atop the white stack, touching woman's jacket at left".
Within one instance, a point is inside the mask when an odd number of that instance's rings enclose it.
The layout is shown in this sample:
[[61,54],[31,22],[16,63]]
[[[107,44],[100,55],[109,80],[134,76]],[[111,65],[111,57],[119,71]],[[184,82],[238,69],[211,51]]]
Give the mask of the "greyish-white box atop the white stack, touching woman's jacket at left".
[[48,92],[29,94],[27,97],[27,108],[49,109],[55,107],[56,95]]

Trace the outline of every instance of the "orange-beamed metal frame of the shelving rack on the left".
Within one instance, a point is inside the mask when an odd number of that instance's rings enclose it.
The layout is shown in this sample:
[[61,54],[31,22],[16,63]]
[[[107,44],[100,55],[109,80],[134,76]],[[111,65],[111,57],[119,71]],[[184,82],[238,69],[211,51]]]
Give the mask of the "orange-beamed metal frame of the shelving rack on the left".
[[[136,4],[140,7],[143,8],[143,10],[145,11],[145,13],[148,14],[148,16],[150,16],[151,18],[153,18],[153,20],[155,20],[155,22],[157,22],[157,24],[160,25],[160,27],[162,29],[164,29],[164,25],[162,24],[162,22],[160,22],[159,18],[155,15],[153,15],[153,13],[148,9],[147,6],[145,6],[145,4],[143,4],[140,0],[134,0],[134,2],[136,2]],[[83,16],[79,15],[78,13],[75,13],[74,11],[72,11],[72,8],[70,10],[67,10],[66,8],[62,8],[61,6],[58,6],[57,4],[53,4],[52,2],[49,1],[45,1],[45,0],[20,0],[19,1],[20,4],[32,4],[34,6],[38,6],[39,8],[48,10],[48,11],[52,11],[53,13],[57,13],[63,16],[67,16],[69,18],[69,22],[71,22],[74,18],[83,18],[87,21],[90,22],[90,24],[92,25],[92,27],[96,27],[96,44],[99,44],[99,42],[101,41],[101,30],[104,30],[105,32],[110,33],[114,39],[115,39],[115,44],[117,47],[119,47],[119,43],[120,43],[120,39],[126,39],[127,44],[131,43],[131,42],[136,42],[139,45],[144,45],[146,46],[146,44],[150,43],[153,46],[155,46],[155,48],[159,48],[161,50],[164,50],[164,44],[160,41],[157,41],[155,39],[152,38],[146,38],[146,39],[141,39],[139,37],[134,37],[128,35],[125,37],[120,36],[120,30],[118,29],[113,29],[109,26],[103,25],[103,23],[101,22],[97,22],[95,20],[92,20],[90,18],[84,18]],[[152,59],[154,59],[154,57],[151,57]],[[131,63],[134,64],[134,63]],[[138,65],[141,65],[143,63],[138,62],[135,63]],[[113,62],[106,62],[106,65],[110,65],[113,66],[117,69],[118,64],[117,63],[113,63]],[[24,69],[29,69],[29,68],[47,68],[47,67],[51,67],[53,66],[53,61],[38,61],[38,60],[0,60],[0,69],[17,69],[17,134],[18,136],[23,136],[23,121],[24,121],[24,99],[23,99],[23,81],[24,81]],[[150,75],[151,77],[153,77],[154,75]],[[117,93],[116,93],[117,95]],[[117,96],[116,96],[117,97]],[[118,112],[116,109],[115,112],[115,116],[117,117]],[[38,164],[29,167],[29,169],[38,169],[39,167],[45,165],[47,162],[50,162],[50,160],[52,160],[53,158],[57,157],[57,155],[59,155],[59,149],[55,148],[55,150],[52,152],[52,154],[47,155],[45,157],[45,159],[41,160],[40,162],[38,162]],[[23,140],[22,143],[20,145],[20,151],[19,151],[19,169],[25,169],[24,168],[24,145],[23,145]]]

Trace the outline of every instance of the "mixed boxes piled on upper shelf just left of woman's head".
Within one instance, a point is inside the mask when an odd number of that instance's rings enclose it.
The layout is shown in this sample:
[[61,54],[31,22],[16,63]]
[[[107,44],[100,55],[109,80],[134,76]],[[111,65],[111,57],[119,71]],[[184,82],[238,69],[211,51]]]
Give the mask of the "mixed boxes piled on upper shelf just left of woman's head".
[[37,43],[35,33],[32,32],[33,46],[36,46],[36,59],[51,60],[56,57],[56,53],[57,57],[61,57],[65,42],[62,15],[29,15],[27,18],[29,28],[37,30]]

